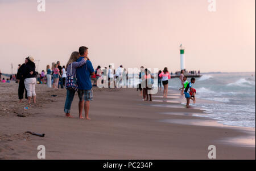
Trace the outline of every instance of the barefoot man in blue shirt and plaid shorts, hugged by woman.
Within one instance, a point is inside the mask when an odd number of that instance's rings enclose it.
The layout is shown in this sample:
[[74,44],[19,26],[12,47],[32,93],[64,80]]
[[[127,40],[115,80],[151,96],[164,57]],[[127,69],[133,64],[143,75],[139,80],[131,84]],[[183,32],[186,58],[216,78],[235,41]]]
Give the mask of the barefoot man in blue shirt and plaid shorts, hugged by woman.
[[84,108],[85,118],[90,120],[90,101],[93,100],[92,82],[90,80],[90,75],[94,75],[95,73],[92,62],[90,62],[89,58],[87,57],[88,48],[81,46],[79,48],[79,54],[80,58],[77,59],[76,62],[81,61],[83,58],[87,59],[85,65],[77,68],[76,70],[77,84],[79,86],[79,118],[84,119],[84,117],[82,117],[82,109]]

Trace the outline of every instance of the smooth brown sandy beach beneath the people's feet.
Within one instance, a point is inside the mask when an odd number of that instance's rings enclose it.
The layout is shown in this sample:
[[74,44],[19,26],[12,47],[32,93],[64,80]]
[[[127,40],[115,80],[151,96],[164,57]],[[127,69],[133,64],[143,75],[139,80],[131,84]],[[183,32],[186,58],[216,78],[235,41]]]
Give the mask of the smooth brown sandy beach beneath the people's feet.
[[[0,83],[0,159],[255,159],[255,128],[225,126],[201,109],[185,109],[175,90],[163,101],[142,101],[136,89],[93,87],[91,121],[78,118],[77,93],[71,114],[64,117],[65,89],[36,85],[37,104],[18,104],[18,84]],[[57,95],[52,97],[51,95]],[[26,117],[18,117],[23,114]],[[45,134],[41,138],[26,131]]]

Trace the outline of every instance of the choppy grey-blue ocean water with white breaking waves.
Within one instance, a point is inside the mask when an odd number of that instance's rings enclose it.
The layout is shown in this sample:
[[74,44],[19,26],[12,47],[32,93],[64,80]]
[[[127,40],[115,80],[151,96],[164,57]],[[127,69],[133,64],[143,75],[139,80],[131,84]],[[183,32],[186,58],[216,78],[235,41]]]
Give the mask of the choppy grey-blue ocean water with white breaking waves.
[[[192,86],[196,97],[213,102],[192,105],[205,109],[207,117],[225,125],[255,127],[255,72],[202,75]],[[180,79],[170,79],[169,87],[180,88]]]

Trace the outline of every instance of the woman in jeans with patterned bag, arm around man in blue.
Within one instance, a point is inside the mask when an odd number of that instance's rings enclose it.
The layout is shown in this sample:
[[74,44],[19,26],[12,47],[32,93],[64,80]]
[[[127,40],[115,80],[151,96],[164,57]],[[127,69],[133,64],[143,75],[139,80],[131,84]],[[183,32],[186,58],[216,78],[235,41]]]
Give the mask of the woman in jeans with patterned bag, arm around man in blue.
[[74,99],[75,93],[78,89],[76,83],[76,69],[86,63],[85,59],[82,59],[80,62],[76,62],[79,57],[79,52],[72,52],[71,57],[69,58],[68,63],[66,65],[67,79],[65,81],[65,87],[67,89],[67,96],[65,100],[64,112],[65,116],[70,118],[72,118],[70,114],[71,104]]

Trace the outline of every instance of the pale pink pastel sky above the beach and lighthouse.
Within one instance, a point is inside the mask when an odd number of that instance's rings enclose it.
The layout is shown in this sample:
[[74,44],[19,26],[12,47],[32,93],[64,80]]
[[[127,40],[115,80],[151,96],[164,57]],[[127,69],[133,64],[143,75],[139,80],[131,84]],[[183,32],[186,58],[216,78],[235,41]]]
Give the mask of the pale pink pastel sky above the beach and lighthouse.
[[255,71],[255,0],[0,0],[0,70],[16,72],[32,55],[39,71],[65,65],[79,46],[94,68],[168,67],[180,70]]

